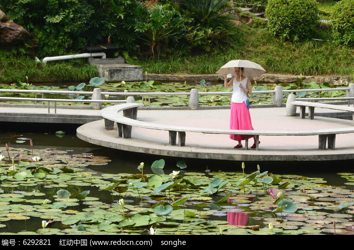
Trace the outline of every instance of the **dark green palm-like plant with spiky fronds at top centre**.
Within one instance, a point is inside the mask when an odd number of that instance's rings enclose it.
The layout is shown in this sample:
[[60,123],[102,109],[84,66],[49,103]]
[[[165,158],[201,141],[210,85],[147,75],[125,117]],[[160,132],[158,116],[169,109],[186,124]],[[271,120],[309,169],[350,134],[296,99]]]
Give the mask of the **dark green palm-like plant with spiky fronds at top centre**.
[[229,0],[184,0],[181,7],[194,19],[195,24],[214,27],[228,22],[229,14],[235,8],[230,7]]

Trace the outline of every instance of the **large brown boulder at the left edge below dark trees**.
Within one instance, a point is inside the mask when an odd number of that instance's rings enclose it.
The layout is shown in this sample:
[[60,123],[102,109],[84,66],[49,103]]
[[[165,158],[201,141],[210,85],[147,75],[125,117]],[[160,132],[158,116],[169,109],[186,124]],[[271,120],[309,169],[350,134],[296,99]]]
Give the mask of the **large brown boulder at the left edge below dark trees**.
[[28,38],[28,31],[21,25],[18,25],[11,20],[0,22],[0,44],[18,44],[27,41]]

